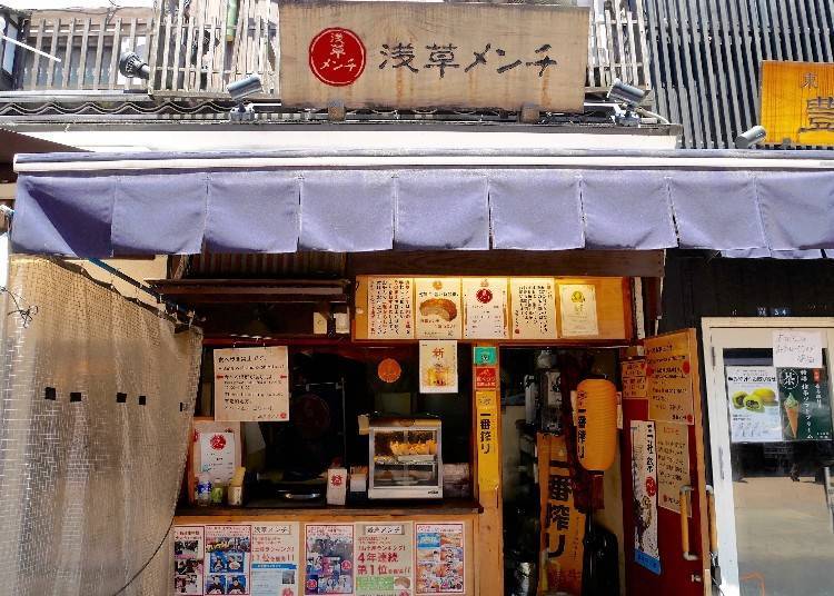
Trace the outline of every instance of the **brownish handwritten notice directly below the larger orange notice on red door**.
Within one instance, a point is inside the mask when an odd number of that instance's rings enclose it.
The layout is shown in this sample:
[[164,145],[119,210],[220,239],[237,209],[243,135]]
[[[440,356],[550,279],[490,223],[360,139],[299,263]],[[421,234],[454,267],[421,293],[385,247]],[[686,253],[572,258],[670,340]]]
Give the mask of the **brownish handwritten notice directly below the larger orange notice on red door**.
[[[689,480],[689,427],[657,423],[657,504],[681,513],[681,487]],[[692,511],[689,511],[692,517]]]

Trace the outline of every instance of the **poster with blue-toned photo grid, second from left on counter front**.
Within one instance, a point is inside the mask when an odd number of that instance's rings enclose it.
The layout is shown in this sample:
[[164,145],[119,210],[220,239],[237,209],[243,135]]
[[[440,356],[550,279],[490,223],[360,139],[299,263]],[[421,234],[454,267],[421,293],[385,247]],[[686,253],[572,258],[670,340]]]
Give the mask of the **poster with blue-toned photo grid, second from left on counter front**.
[[205,594],[250,594],[251,526],[205,526]]

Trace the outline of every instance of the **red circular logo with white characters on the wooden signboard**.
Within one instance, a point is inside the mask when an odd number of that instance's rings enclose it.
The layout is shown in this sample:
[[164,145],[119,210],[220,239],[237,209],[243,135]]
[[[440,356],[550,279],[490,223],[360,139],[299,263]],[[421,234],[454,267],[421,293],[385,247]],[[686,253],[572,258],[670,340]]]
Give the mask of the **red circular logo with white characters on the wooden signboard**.
[[350,29],[330,27],[310,41],[310,70],[334,87],[353,85],[365,70],[365,46]]

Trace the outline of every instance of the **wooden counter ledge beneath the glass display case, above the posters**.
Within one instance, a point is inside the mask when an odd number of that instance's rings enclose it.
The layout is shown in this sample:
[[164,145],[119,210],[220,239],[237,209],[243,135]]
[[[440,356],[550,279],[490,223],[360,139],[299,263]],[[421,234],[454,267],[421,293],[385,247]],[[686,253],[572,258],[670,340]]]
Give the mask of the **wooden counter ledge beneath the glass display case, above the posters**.
[[443,500],[368,500],[348,505],[308,505],[297,503],[277,504],[265,507],[229,507],[217,505],[209,507],[178,508],[177,517],[262,517],[262,516],[395,516],[416,515],[464,515],[479,514],[483,508],[475,499]]

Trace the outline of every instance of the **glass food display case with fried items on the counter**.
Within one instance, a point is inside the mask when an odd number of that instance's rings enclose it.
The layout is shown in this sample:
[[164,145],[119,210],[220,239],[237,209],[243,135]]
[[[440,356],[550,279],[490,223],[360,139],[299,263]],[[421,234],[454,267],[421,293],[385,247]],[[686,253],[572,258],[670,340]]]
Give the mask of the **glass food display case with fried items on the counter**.
[[374,421],[369,439],[369,498],[443,497],[440,420]]

